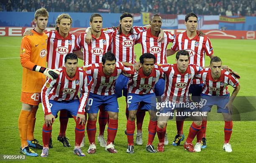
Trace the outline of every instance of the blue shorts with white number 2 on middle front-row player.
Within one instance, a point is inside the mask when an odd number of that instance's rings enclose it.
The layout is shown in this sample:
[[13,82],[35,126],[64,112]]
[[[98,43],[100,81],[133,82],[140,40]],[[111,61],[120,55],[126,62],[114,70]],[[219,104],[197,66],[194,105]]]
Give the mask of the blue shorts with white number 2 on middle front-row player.
[[127,96],[128,111],[137,110],[139,103],[142,104],[141,109],[155,110],[156,95],[154,93],[151,93],[151,94],[128,93],[128,96]]

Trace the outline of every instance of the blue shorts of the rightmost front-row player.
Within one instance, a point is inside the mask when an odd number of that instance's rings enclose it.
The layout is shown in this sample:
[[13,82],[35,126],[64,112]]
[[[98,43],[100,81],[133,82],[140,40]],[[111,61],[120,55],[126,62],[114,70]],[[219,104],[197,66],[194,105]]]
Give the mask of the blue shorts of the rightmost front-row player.
[[210,112],[213,105],[217,105],[217,113],[228,113],[228,108],[225,108],[229,101],[229,94],[225,96],[207,96],[205,94],[201,95],[201,100],[203,106],[200,109],[202,112]]

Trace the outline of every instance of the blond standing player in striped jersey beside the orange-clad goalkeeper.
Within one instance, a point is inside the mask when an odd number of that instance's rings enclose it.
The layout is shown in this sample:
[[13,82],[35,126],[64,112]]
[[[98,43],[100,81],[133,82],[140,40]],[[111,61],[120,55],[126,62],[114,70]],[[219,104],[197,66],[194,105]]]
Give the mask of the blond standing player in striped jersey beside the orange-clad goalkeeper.
[[[69,14],[61,14],[56,18],[56,31],[46,32],[47,41],[47,67],[58,69],[64,66],[64,59],[68,53],[80,50],[77,42],[77,36],[69,33],[72,26],[72,18]],[[31,31],[26,31],[24,35],[33,35]],[[63,146],[69,147],[70,144],[66,138],[66,129],[68,123],[67,110],[61,110],[59,114],[60,131],[57,138],[63,143]],[[49,148],[52,148],[52,141],[49,141]]]

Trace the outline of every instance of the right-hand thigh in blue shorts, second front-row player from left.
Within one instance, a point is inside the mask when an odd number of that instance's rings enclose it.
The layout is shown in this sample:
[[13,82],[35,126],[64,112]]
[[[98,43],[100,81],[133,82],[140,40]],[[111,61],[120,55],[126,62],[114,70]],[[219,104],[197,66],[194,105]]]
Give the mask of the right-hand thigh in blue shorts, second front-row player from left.
[[113,113],[119,112],[117,96],[115,94],[105,96],[103,103],[105,104],[105,111]]

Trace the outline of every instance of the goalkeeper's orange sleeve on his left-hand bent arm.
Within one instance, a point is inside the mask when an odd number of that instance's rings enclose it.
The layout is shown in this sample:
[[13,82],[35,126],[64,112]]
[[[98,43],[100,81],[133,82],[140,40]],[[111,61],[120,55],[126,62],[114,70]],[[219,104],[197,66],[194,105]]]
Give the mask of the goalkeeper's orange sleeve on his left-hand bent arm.
[[31,54],[31,42],[27,37],[23,37],[21,40],[20,46],[20,63],[22,67],[25,67],[29,70],[33,70],[33,67],[36,65],[30,61]]

